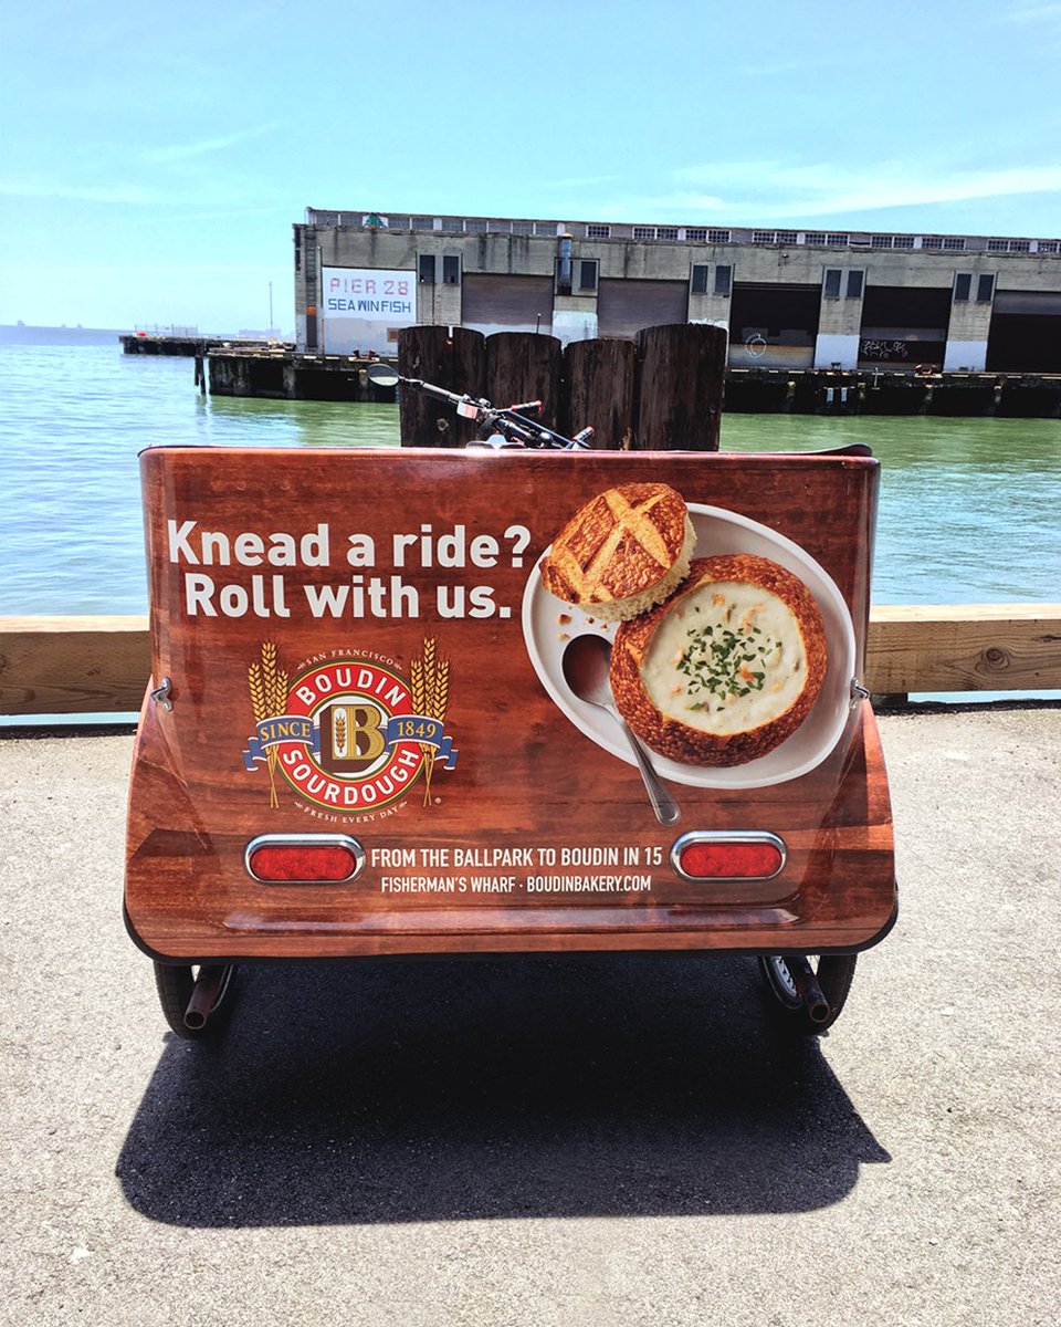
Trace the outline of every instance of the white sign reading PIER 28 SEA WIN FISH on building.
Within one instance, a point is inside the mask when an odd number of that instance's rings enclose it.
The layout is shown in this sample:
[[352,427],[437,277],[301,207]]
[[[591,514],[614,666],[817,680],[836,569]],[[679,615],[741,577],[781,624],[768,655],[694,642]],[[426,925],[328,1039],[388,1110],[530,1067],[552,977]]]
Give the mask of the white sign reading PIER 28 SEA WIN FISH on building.
[[326,267],[321,272],[321,311],[326,350],[393,350],[397,329],[416,321],[416,275]]

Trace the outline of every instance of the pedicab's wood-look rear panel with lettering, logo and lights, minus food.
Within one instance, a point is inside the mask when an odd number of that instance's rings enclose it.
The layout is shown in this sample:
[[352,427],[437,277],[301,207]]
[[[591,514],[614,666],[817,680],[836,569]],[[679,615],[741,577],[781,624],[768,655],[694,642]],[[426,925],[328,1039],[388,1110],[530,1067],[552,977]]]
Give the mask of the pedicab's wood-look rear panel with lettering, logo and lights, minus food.
[[[141,464],[154,675],[126,914],[156,959],[821,953],[886,933],[887,784],[851,687],[871,458],[163,447]],[[613,718],[565,687],[566,641],[614,626],[537,565],[582,504],[643,480],[686,499],[698,556],[788,567],[829,636],[810,717],[768,756],[653,754],[675,825]]]

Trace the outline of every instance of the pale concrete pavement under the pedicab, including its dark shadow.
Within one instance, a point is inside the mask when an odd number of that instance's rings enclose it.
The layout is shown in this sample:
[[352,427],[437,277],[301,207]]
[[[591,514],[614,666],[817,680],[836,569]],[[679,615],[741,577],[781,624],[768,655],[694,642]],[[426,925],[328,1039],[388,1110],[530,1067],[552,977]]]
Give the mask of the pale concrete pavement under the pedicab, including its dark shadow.
[[899,922],[797,1046],[696,958],[244,969],[178,1042],[131,739],[0,743],[0,1322],[1053,1324],[1061,709],[882,731]]

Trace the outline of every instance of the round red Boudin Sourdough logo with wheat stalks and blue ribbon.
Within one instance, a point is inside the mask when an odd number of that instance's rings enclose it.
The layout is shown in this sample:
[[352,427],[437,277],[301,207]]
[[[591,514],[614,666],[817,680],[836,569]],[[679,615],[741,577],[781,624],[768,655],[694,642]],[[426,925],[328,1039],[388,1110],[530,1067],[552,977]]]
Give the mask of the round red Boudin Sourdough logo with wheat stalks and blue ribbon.
[[289,682],[272,641],[247,678],[255,735],[243,760],[248,770],[265,766],[271,807],[285,782],[316,807],[358,815],[406,796],[416,780],[430,805],[436,768],[456,764],[443,731],[450,661],[434,640],[424,640],[408,681],[390,664],[337,656]]

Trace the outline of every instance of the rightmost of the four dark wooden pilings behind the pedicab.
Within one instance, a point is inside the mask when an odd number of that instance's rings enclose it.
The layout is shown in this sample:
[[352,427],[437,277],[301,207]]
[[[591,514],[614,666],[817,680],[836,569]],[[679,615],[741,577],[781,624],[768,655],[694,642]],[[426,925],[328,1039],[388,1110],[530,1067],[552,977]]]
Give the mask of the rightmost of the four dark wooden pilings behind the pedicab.
[[727,336],[678,322],[637,336],[639,451],[718,451]]

